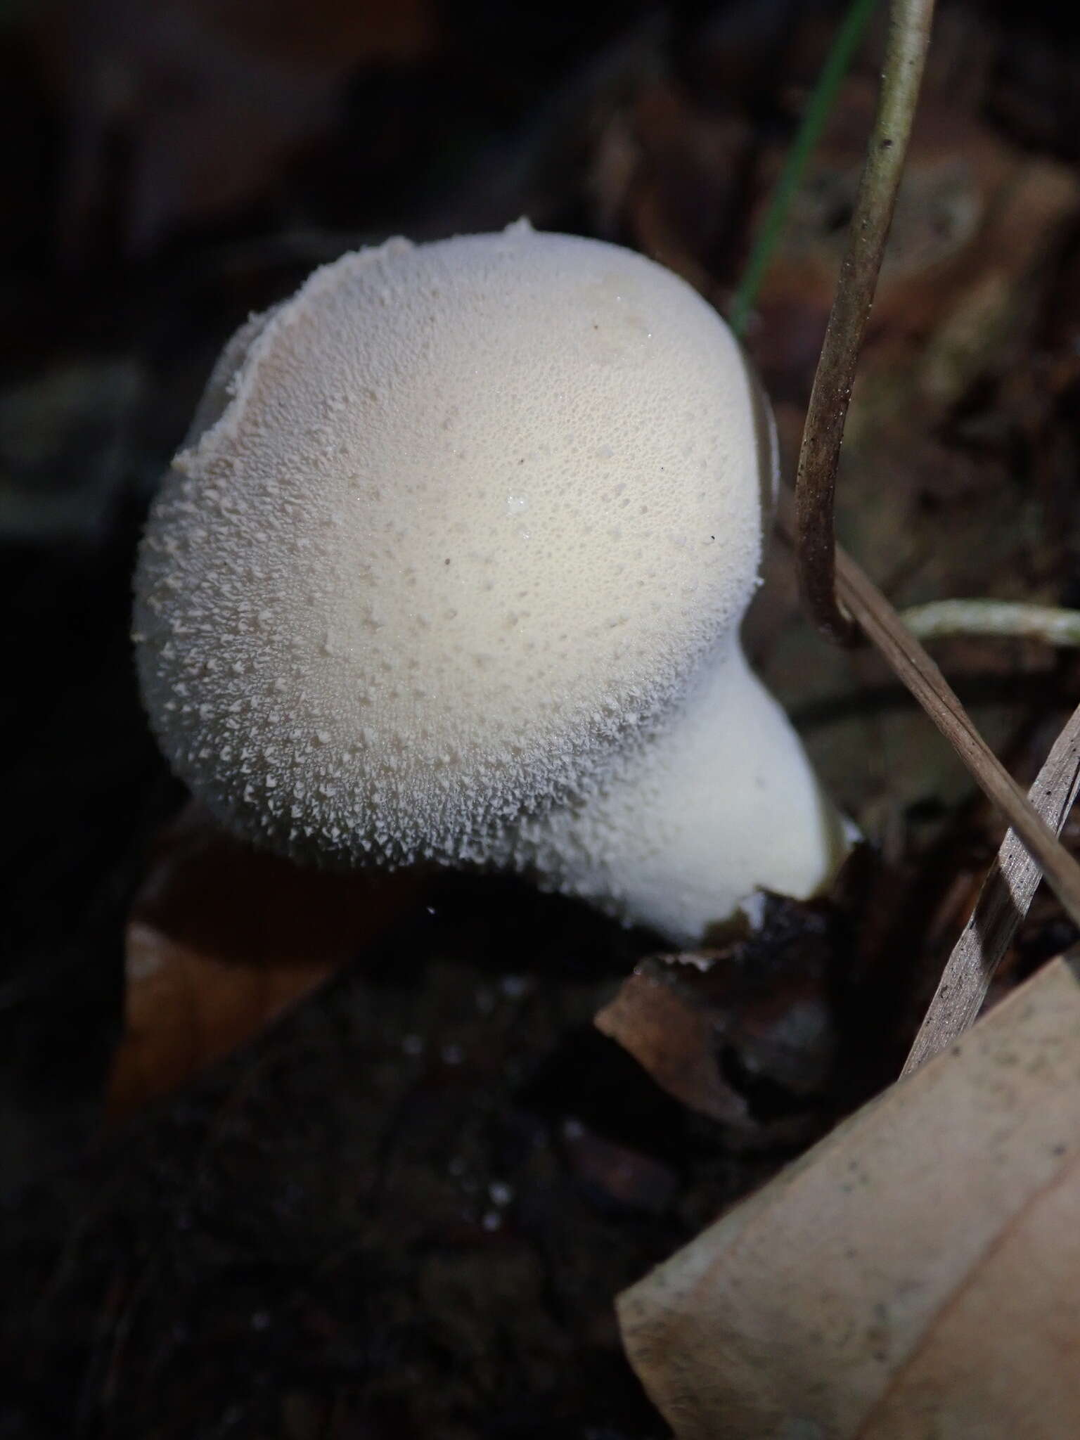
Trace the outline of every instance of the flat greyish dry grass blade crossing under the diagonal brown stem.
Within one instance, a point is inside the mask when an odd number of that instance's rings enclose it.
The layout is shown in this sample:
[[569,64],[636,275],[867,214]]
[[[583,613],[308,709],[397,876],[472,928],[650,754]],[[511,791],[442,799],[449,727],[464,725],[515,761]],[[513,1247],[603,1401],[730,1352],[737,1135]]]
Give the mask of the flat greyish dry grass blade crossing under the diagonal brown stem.
[[[1080,791],[1080,706],[1054,742],[1028,799],[1061,834]],[[912,1074],[973,1025],[1001,956],[1017,926],[1028,913],[1043,871],[1014,829],[1005,835],[996,860],[979,890],[971,919],[946,960],[935,996],[926,1011],[901,1074]]]

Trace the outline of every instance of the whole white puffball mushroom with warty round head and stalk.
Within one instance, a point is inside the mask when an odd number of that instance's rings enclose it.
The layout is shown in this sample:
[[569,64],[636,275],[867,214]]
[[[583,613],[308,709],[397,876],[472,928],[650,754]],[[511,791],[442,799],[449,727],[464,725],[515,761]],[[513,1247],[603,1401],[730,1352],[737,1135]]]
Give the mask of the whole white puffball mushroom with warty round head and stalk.
[[158,494],[143,696],[233,831],[501,865],[687,943],[842,850],[737,626],[770,428],[681,279],[598,240],[396,239],[245,325]]

